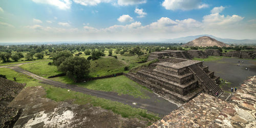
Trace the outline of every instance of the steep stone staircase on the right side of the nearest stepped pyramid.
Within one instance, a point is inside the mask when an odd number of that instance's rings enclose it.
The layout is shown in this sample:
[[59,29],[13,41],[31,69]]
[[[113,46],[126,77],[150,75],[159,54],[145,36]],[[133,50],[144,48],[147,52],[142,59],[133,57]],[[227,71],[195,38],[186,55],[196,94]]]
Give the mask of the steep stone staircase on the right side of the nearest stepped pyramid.
[[218,96],[220,96],[223,93],[220,87],[199,66],[191,65],[188,68],[196,75],[211,95],[215,96],[216,93],[219,93]]

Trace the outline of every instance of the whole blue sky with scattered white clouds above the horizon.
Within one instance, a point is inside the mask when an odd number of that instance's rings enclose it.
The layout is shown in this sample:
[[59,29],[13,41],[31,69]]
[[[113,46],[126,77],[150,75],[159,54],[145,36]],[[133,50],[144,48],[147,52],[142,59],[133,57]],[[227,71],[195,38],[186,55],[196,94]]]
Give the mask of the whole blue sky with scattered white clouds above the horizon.
[[255,0],[0,0],[0,42],[256,39]]

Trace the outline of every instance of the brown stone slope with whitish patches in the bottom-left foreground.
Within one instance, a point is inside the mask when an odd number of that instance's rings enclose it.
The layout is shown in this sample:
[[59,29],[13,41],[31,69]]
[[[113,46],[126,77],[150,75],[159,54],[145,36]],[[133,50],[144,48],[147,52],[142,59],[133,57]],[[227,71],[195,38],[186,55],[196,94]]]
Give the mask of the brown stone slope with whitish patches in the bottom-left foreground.
[[72,101],[55,102],[45,98],[42,87],[22,90],[9,104],[23,109],[14,127],[145,127],[146,122],[123,118],[110,110],[91,104],[77,105]]

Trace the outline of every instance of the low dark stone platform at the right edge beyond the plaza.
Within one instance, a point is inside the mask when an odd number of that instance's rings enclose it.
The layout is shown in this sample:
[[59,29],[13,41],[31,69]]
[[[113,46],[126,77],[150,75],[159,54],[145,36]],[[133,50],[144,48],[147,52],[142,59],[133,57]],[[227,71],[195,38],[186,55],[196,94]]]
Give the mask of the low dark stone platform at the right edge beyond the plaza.
[[244,58],[244,59],[254,59],[256,57],[253,51],[231,51],[231,52],[223,53],[223,56]]

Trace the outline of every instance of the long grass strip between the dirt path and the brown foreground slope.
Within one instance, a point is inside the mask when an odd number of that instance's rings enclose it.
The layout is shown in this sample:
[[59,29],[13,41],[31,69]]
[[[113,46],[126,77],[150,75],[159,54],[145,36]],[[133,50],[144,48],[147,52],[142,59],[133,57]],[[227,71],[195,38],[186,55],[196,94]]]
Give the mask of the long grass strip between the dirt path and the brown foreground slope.
[[35,80],[27,75],[15,72],[11,69],[0,68],[0,74],[6,75],[9,80],[13,80],[13,77],[17,77],[16,82],[27,83],[26,87],[42,86],[47,92],[46,97],[57,102],[74,99],[74,103],[76,104],[91,103],[94,106],[100,106],[103,109],[112,110],[114,113],[120,114],[122,117],[135,117],[138,119],[147,120],[148,122],[153,122],[160,119],[160,117],[158,117],[156,114],[148,113],[147,110],[137,109],[120,102],[115,102],[104,98],[99,98],[75,91],[68,91],[67,89],[56,88],[47,84],[42,84],[39,83],[38,80]]

